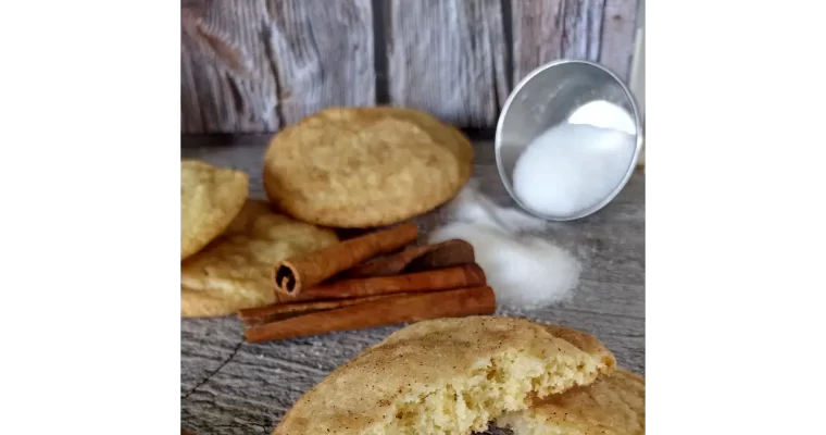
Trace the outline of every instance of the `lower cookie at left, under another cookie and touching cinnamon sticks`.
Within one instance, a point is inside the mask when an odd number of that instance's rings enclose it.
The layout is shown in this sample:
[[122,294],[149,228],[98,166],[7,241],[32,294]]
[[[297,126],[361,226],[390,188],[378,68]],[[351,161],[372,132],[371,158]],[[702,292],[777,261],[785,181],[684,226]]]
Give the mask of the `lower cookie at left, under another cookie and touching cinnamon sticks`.
[[180,316],[227,315],[273,303],[273,264],[336,243],[331,229],[249,200],[224,234],[180,264]]

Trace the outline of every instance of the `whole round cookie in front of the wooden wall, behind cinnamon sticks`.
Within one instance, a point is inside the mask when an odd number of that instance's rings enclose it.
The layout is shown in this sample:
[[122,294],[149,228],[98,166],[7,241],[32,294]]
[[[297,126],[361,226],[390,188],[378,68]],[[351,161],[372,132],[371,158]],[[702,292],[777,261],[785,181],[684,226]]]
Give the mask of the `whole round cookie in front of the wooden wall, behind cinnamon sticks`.
[[473,147],[427,113],[328,108],[289,126],[264,156],[267,198],[305,222],[365,228],[405,221],[455,196]]

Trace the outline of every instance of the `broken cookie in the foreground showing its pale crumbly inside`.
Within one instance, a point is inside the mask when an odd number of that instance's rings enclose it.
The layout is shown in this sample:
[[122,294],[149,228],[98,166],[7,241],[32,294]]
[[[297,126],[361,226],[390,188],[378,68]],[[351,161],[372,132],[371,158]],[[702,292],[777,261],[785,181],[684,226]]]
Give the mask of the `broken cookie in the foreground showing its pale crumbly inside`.
[[402,328],[305,393],[275,428],[287,434],[464,435],[483,432],[531,395],[562,393],[610,373],[595,337],[573,344],[524,319],[471,316]]

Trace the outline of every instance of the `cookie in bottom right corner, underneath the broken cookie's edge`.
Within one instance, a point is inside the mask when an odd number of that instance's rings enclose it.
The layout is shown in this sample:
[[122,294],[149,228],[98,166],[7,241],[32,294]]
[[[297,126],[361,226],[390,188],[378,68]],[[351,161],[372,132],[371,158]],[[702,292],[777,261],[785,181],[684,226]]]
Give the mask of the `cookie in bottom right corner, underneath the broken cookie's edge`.
[[497,420],[514,435],[643,435],[646,378],[617,369],[593,384],[536,399],[525,411]]

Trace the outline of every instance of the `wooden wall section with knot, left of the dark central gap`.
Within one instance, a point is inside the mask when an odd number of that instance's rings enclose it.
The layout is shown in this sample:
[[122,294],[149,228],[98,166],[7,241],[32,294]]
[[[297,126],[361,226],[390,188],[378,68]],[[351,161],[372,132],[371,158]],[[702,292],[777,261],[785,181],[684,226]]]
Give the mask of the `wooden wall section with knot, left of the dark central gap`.
[[373,105],[370,0],[182,0],[180,130],[273,132]]

